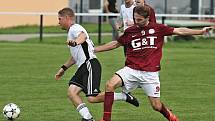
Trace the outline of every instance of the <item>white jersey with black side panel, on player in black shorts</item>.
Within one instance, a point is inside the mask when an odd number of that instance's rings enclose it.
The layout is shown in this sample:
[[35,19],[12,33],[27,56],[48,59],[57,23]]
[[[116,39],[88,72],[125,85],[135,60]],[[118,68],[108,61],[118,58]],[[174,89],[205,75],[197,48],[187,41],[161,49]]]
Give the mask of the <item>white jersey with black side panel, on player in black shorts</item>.
[[81,25],[74,24],[69,28],[67,40],[75,40],[81,32],[86,34],[86,41],[75,47],[68,46],[70,53],[78,67],[80,67],[87,60],[96,58],[96,55],[94,54],[94,44],[90,40],[87,31]]

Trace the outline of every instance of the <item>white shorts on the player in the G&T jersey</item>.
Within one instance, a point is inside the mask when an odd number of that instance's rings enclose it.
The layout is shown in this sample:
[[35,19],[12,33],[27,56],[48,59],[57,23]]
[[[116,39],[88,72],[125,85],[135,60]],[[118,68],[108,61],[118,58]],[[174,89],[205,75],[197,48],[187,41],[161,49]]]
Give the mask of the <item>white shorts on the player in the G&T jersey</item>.
[[140,86],[147,96],[160,97],[159,72],[146,72],[124,67],[116,74],[124,83],[124,92],[131,92]]

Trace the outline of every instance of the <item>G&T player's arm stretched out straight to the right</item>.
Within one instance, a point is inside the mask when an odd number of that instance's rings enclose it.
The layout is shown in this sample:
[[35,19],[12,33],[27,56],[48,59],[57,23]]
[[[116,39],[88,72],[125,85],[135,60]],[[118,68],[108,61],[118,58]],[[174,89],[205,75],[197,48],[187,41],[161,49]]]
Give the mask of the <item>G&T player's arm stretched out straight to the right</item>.
[[177,35],[202,35],[207,33],[212,27],[204,27],[201,30],[189,29],[189,28],[174,28],[173,34]]

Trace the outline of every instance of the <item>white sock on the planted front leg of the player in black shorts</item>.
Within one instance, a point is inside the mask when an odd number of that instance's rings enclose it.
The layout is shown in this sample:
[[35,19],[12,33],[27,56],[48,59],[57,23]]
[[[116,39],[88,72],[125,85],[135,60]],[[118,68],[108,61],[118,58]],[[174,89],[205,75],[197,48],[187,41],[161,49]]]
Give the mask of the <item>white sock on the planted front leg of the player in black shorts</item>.
[[79,114],[84,118],[84,119],[91,119],[93,116],[90,114],[89,109],[87,108],[85,103],[81,103],[77,109],[76,109]]

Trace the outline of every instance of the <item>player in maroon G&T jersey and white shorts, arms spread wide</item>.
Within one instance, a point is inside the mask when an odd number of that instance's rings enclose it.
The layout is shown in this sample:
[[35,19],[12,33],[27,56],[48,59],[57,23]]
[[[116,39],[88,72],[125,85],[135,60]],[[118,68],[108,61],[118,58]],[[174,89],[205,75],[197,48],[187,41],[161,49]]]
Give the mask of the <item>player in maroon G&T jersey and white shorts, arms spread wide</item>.
[[168,27],[149,22],[149,13],[148,6],[136,6],[134,8],[135,25],[126,29],[117,41],[95,47],[95,52],[112,50],[119,46],[126,47],[125,67],[117,71],[106,83],[104,113],[101,121],[111,121],[114,91],[121,86],[125,92],[140,86],[155,111],[160,112],[168,121],[179,121],[160,100],[159,71],[164,36],[201,35],[211,27],[205,27],[202,30]]

